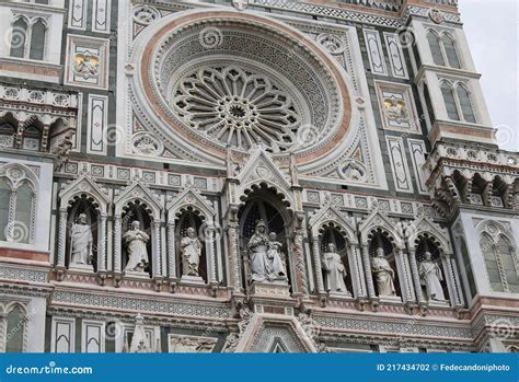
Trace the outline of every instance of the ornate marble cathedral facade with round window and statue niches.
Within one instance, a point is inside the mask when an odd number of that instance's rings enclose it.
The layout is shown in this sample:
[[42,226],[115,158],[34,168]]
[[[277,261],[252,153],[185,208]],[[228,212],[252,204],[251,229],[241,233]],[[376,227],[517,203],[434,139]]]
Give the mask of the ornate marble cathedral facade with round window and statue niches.
[[519,154],[457,0],[0,18],[0,351],[518,350]]

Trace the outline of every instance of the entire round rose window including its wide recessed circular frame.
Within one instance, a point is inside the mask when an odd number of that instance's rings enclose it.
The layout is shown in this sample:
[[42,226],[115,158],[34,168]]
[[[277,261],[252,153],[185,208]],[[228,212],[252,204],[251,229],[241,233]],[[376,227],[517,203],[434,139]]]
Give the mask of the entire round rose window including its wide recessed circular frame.
[[330,55],[282,23],[218,12],[178,12],[139,35],[129,74],[146,129],[205,160],[262,144],[309,161],[338,147],[350,99]]

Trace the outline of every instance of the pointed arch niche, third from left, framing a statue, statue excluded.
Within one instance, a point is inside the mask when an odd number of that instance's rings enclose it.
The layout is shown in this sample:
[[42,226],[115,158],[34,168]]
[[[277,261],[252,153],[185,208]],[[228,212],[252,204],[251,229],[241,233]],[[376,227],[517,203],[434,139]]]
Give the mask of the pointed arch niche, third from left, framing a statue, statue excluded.
[[206,283],[218,282],[215,244],[219,234],[215,216],[209,200],[191,185],[168,204],[168,276],[171,279],[183,275],[180,243],[192,227],[203,244],[198,274]]

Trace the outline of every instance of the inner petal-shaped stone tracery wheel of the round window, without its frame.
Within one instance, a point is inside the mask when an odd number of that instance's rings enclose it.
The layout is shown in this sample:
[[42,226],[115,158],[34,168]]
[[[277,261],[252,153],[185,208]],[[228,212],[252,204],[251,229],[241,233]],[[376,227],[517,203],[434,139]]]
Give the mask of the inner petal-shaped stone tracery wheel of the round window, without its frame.
[[296,144],[300,112],[292,96],[261,73],[235,66],[188,73],[174,90],[173,106],[192,128],[224,144],[274,152]]

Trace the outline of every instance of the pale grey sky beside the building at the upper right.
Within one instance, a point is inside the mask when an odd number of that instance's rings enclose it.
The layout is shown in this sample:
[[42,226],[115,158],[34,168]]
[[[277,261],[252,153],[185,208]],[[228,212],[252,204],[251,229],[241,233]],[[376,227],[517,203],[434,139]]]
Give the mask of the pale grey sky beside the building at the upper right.
[[459,0],[496,139],[519,151],[519,0]]

